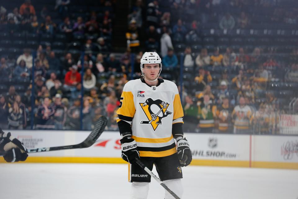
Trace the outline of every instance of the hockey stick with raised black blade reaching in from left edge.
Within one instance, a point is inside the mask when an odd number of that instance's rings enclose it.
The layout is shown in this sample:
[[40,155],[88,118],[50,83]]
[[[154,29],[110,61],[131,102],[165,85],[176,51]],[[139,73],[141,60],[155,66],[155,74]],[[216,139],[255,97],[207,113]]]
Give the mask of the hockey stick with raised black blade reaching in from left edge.
[[[107,123],[106,117],[105,116],[101,116],[97,120],[97,122],[94,125],[94,128],[92,129],[92,132],[89,134],[89,136],[83,142],[81,142],[79,144],[68,145],[68,146],[55,146],[55,147],[47,147],[47,148],[44,147],[44,148],[28,149],[28,153],[37,153],[37,152],[53,151],[53,150],[64,150],[64,149],[82,149],[82,148],[87,148],[89,146],[92,146],[95,143],[95,141],[97,141],[97,138],[105,130],[106,123]],[[5,154],[1,154],[1,155],[5,155]]]

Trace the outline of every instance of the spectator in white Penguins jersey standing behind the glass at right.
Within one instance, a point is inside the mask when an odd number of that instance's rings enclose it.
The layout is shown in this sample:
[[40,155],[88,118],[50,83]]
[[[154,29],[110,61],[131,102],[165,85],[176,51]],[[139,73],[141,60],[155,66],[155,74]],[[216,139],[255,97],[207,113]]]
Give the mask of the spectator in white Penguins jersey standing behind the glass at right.
[[237,105],[232,113],[234,123],[234,133],[249,133],[251,108],[245,105],[244,97],[239,98],[239,105]]

